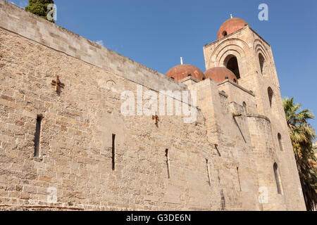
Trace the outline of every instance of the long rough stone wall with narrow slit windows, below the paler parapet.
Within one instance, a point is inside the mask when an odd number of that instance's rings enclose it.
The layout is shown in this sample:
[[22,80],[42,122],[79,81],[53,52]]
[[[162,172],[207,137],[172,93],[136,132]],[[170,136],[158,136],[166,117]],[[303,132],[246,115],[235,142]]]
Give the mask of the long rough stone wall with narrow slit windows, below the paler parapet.
[[[192,124],[160,116],[159,127],[151,117],[123,117],[120,93],[136,92],[134,82],[3,29],[0,41],[1,205],[47,205],[52,186],[56,207],[220,210],[220,186],[226,184],[219,184],[216,149],[206,139],[201,115]],[[60,96],[51,86],[55,75],[66,84]],[[39,158],[37,115],[44,117]],[[221,170],[230,176],[230,169]]]

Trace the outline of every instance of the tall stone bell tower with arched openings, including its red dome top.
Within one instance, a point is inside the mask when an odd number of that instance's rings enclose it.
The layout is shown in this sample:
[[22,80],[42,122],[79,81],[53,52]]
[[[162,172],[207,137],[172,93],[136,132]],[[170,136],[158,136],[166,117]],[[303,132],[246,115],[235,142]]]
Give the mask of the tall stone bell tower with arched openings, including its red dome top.
[[[231,16],[220,26],[217,40],[204,46],[204,59],[207,72],[227,68],[234,73],[238,86],[254,94],[256,110],[247,113],[247,121],[254,160],[258,165],[259,187],[272,184],[269,195],[274,195],[274,202],[276,204],[283,202],[287,209],[292,209],[294,201],[303,205],[302,189],[285,119],[271,45],[252,30],[249,23]],[[222,76],[221,80],[228,79],[227,75]],[[221,84],[218,84],[219,91],[222,88]],[[246,105],[244,107],[247,108]],[[257,117],[266,118],[269,122],[265,132],[260,132],[265,125],[256,122]],[[270,146],[271,142],[272,146]],[[261,175],[273,176],[272,173],[275,174],[278,188],[272,181],[268,181],[267,177]],[[270,210],[272,207],[278,208],[269,205],[264,206],[264,210]]]

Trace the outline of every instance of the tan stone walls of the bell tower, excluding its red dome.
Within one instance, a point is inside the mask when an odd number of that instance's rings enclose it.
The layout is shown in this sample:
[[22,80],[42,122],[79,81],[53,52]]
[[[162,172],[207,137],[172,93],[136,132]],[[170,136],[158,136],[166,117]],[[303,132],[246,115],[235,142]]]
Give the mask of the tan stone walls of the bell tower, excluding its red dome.
[[[259,54],[263,56],[265,62],[262,68],[260,66]],[[278,164],[281,180],[284,184],[284,193],[282,195],[276,195],[276,191],[271,189],[271,204],[273,206],[264,206],[264,210],[274,208],[282,210],[305,210],[306,207],[304,205],[302,188],[299,182],[290,134],[282,106],[280,84],[278,82],[271,46],[249,26],[243,27],[223,39],[204,46],[207,69],[215,66],[224,67],[225,58],[230,55],[237,58],[241,76],[238,79],[240,86],[246,90],[250,90],[251,94],[247,95],[246,91],[238,94],[237,91],[234,91],[236,88],[233,88],[233,85],[230,85],[228,82],[220,84],[218,88],[220,91],[225,90],[229,95],[229,101],[240,105],[243,101],[247,103],[247,113],[251,114],[248,115],[248,127],[251,133],[253,148],[261,149],[263,154],[266,154],[266,158],[271,158],[271,161],[264,162],[259,158],[256,160],[256,157],[254,157],[256,165],[259,165],[261,168],[264,165],[267,166],[266,181],[261,182],[261,178],[259,178],[260,186],[263,183],[269,184],[271,182],[274,163]],[[273,91],[271,104],[268,95],[269,88]],[[254,96],[254,98],[251,99],[251,96]],[[254,113],[256,117],[259,117],[259,115],[260,117],[266,117],[270,121],[270,127],[264,130],[259,124],[256,124],[257,122],[254,123],[250,117],[254,116]],[[278,134],[282,137],[282,150],[279,146]],[[268,143],[270,143],[270,146]],[[259,168],[259,174],[262,173],[261,168]],[[275,195],[278,198],[275,198]]]

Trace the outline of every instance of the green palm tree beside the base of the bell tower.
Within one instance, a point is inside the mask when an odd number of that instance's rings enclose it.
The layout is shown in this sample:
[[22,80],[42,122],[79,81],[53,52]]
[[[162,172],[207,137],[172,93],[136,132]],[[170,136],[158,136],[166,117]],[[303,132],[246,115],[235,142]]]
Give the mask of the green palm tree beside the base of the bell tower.
[[312,211],[317,203],[317,173],[310,163],[316,162],[313,150],[316,134],[307,120],[315,117],[311,110],[301,110],[301,105],[294,104],[294,98],[283,99],[287,126],[290,131],[306,207],[307,210]]

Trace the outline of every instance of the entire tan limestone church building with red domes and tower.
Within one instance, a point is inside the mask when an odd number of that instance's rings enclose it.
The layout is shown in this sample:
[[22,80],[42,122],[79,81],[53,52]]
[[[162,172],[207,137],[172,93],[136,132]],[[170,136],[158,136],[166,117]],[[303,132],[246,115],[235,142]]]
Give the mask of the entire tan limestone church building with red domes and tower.
[[[0,210],[306,210],[271,46],[232,18],[204,58],[162,75],[0,0]],[[197,120],[123,115],[138,85]]]

